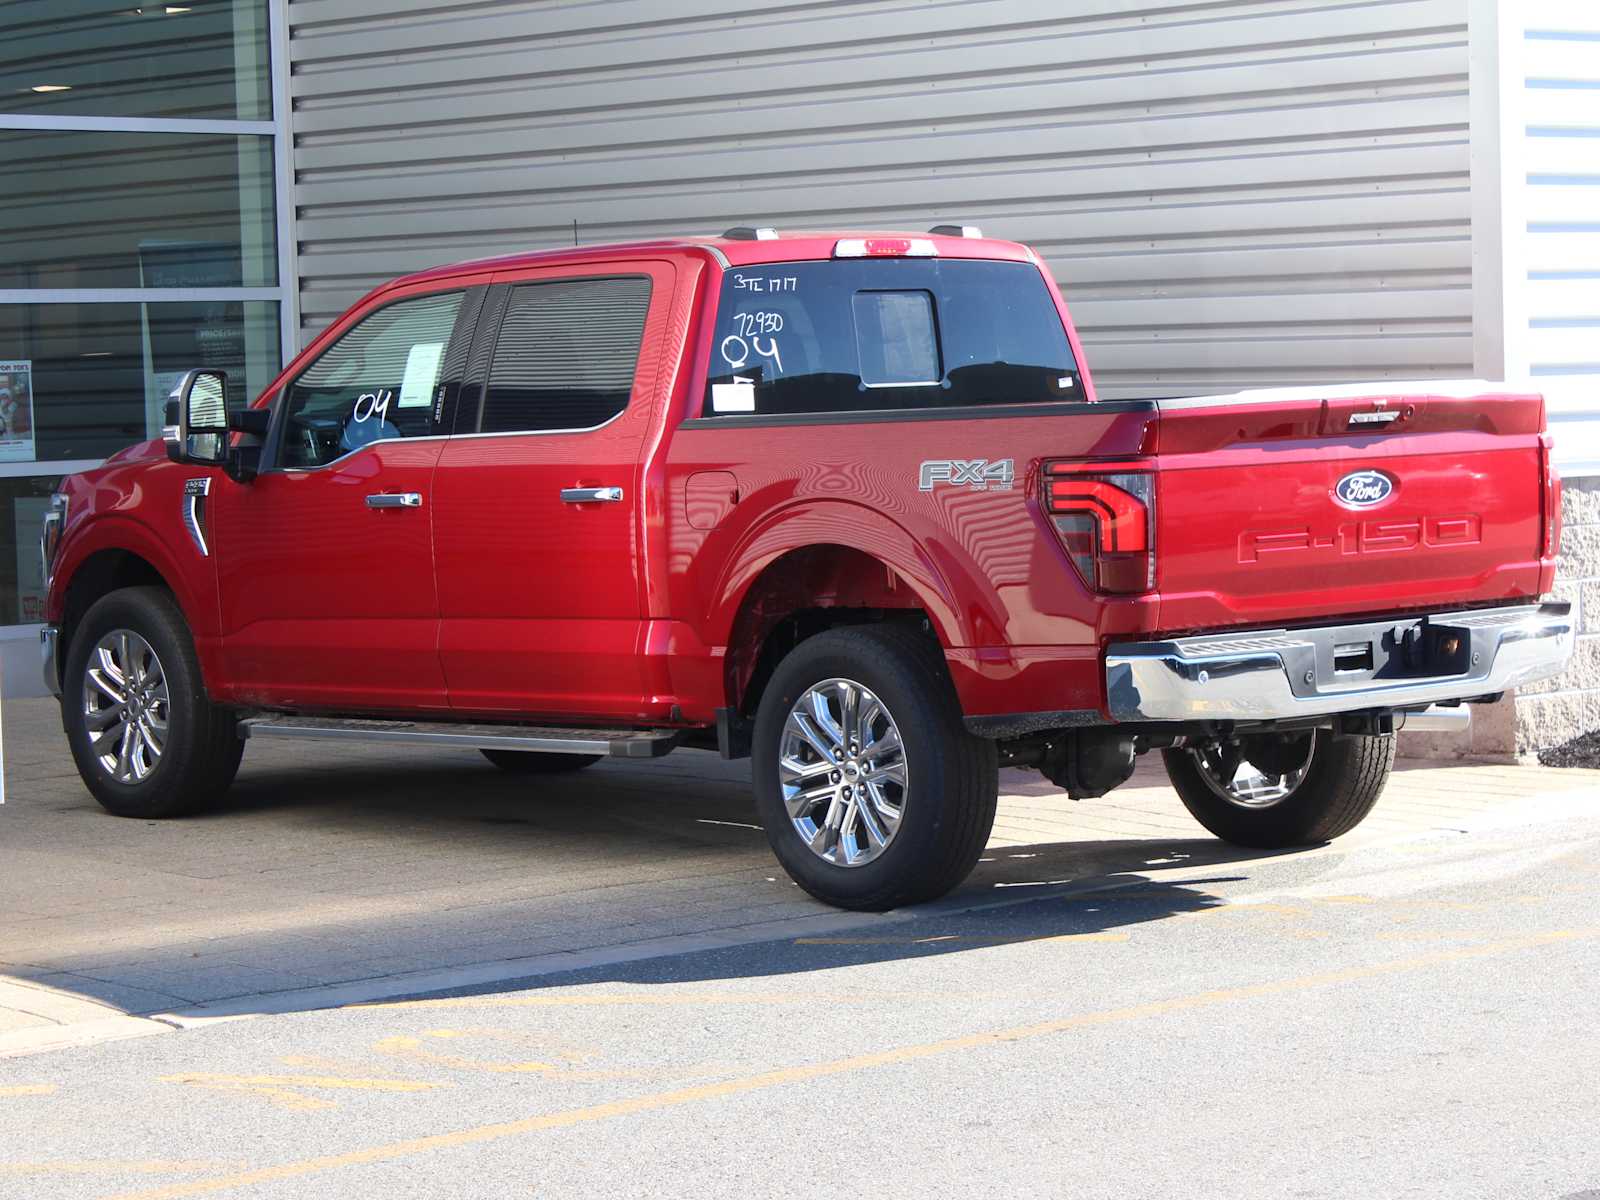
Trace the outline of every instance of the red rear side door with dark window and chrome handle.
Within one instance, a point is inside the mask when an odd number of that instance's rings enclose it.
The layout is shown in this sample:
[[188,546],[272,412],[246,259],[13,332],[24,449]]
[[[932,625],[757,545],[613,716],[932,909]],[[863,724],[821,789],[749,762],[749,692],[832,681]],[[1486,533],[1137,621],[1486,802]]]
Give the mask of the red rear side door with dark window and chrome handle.
[[640,456],[674,270],[608,261],[494,278],[434,483],[450,704],[637,718]]

